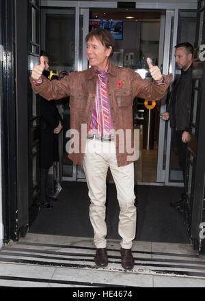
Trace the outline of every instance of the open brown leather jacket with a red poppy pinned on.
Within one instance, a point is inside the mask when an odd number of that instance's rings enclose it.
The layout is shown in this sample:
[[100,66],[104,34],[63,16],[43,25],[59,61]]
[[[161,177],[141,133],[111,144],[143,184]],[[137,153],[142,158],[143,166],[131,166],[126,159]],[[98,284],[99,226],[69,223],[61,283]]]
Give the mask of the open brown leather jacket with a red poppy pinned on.
[[[136,96],[156,101],[162,99],[172,81],[172,74],[163,75],[165,84],[157,86],[156,83],[141,79],[140,75],[133,70],[114,66],[110,62],[107,77],[116,157],[118,166],[124,166],[136,159],[136,156],[133,155],[133,99]],[[33,92],[39,93],[45,99],[62,99],[70,96],[70,129],[74,130],[72,132],[74,136],[71,135],[73,144],[70,144],[68,157],[79,166],[82,166],[85,153],[87,133],[96,96],[97,79],[93,67],[83,71],[74,71],[60,81],[49,81],[44,77],[44,81],[40,86],[35,86],[32,78],[30,78]],[[118,86],[119,81],[124,81],[122,87]],[[124,131],[123,139],[120,138],[120,135],[115,135],[118,130]],[[126,138],[126,133],[129,132],[131,135]],[[122,147],[122,144],[124,144],[124,147]],[[131,144],[130,151],[127,150],[126,144]]]

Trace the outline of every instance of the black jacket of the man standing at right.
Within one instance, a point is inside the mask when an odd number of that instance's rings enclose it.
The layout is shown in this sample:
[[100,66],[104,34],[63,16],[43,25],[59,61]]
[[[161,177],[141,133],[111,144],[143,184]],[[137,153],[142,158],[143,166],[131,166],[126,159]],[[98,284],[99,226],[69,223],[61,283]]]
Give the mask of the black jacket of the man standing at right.
[[[169,112],[170,126],[175,127],[176,131],[189,131],[192,70],[193,66],[191,65],[187,71],[182,71],[181,76],[173,83],[167,112]],[[174,97],[176,100],[175,114],[173,112]]]

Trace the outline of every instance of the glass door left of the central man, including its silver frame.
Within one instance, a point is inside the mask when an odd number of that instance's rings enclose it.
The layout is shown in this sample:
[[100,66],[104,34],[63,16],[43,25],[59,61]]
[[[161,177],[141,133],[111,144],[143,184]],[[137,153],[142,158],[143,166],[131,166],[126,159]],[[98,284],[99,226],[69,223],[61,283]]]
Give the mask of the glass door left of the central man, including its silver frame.
[[[42,1],[41,16],[41,48],[49,53],[50,70],[62,78],[74,70],[87,68],[84,41],[88,32],[89,10],[79,10],[77,3],[72,3],[70,7],[52,8],[51,2]],[[83,170],[68,159],[70,140],[69,97],[57,101],[56,105],[64,121],[63,130],[59,134],[59,165],[55,172],[57,180],[55,185],[59,187],[60,181],[76,181],[77,178],[85,179],[85,176]],[[54,170],[51,168],[49,174],[53,173]],[[53,183],[53,181],[51,182]]]

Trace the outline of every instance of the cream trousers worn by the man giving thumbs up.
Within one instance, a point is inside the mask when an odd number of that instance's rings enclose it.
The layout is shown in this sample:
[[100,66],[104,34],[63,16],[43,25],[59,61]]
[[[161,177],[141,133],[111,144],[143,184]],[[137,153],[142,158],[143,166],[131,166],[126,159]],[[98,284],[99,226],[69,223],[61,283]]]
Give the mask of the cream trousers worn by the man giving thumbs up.
[[134,164],[118,167],[115,142],[87,139],[83,169],[90,197],[90,221],[94,228],[96,248],[107,246],[105,223],[106,176],[110,168],[120,205],[118,232],[122,248],[131,248],[135,238],[137,213],[134,193]]

